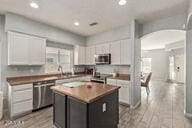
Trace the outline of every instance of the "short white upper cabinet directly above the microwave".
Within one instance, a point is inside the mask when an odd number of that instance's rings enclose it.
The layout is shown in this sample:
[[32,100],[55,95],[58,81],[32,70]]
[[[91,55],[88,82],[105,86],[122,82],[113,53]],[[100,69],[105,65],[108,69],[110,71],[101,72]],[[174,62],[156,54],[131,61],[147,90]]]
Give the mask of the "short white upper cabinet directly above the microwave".
[[99,44],[95,46],[96,54],[108,54],[109,44]]

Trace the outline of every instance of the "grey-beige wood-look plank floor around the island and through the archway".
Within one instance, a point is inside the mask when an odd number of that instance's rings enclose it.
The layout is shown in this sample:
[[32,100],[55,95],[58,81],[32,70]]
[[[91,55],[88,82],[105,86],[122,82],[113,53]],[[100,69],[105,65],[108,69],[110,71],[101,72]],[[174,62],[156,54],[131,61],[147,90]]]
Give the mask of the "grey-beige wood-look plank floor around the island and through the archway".
[[[120,105],[119,128],[192,128],[192,119],[184,114],[182,84],[153,81],[151,93],[142,88],[142,104],[136,109]],[[10,124],[9,124],[10,123]],[[5,125],[6,124],[6,125]],[[5,117],[0,128],[52,128],[52,107],[10,122]]]

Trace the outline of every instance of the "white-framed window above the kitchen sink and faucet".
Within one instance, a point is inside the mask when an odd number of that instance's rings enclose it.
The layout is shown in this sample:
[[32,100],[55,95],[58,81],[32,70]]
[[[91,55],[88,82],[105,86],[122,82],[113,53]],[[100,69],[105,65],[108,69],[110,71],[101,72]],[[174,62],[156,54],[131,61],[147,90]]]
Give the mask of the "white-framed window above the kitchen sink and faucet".
[[58,73],[59,65],[64,72],[70,72],[73,67],[72,50],[47,47],[46,48],[46,73]]

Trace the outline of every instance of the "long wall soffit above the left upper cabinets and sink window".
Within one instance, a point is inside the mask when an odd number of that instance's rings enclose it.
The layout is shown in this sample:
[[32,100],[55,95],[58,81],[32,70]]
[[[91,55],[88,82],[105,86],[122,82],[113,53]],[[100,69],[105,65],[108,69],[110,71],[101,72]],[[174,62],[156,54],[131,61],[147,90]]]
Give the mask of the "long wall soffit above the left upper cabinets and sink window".
[[73,45],[85,45],[86,38],[80,35],[46,25],[13,13],[6,14],[6,31],[17,31],[44,37],[53,42]]

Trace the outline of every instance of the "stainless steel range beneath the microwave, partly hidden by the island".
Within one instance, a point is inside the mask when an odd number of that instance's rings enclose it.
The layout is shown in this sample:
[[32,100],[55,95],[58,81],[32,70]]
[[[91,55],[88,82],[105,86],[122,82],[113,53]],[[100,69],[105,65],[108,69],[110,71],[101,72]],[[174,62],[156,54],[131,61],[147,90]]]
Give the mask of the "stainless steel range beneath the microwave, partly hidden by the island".
[[98,83],[107,83],[107,77],[110,77],[109,74],[98,74],[92,77],[91,82],[98,82]]

